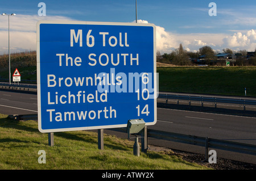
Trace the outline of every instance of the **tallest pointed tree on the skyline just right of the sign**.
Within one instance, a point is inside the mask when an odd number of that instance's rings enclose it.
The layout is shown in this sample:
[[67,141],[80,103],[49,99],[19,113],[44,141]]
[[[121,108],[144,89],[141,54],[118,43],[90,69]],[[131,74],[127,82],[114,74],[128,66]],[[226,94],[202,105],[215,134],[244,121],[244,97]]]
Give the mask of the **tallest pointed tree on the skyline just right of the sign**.
[[182,44],[180,44],[179,48],[175,49],[173,52],[174,55],[174,64],[176,65],[190,65],[191,61],[187,55],[187,51],[183,49]]

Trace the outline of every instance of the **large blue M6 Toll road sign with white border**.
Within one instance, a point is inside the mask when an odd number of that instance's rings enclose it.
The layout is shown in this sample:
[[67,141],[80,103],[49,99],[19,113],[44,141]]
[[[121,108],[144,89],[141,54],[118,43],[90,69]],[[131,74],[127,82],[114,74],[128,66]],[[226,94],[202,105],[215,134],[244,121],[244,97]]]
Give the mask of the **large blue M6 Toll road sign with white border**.
[[156,123],[154,24],[40,21],[36,31],[40,132]]

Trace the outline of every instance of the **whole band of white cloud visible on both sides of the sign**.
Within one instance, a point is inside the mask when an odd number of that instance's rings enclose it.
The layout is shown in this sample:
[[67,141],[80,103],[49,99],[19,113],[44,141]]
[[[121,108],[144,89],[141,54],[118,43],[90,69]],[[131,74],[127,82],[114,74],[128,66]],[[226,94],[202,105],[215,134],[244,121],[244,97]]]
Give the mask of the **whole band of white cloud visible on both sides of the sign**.
[[[11,53],[24,50],[36,50],[36,23],[39,20],[72,20],[65,16],[37,16],[17,15],[10,17],[10,46]],[[148,23],[147,20],[138,20],[138,23]],[[255,50],[256,30],[234,31],[227,33],[172,33],[163,27],[156,26],[156,49],[160,53],[171,53],[179,47],[196,52],[199,48],[208,45],[215,50],[231,48],[234,50]],[[8,53],[8,18],[0,18],[0,54]]]

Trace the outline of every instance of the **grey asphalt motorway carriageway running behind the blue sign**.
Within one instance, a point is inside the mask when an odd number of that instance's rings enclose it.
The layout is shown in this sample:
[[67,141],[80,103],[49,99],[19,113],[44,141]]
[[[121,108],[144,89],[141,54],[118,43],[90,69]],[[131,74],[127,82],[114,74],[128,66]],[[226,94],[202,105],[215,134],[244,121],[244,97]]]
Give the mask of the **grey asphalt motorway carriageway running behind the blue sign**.
[[[256,117],[223,115],[195,111],[158,108],[158,122],[150,129],[190,134],[201,137],[217,138],[256,145]],[[24,115],[37,113],[37,96],[19,92],[0,91],[0,113],[6,115]],[[105,130],[127,138],[127,134]],[[177,142],[154,140],[149,144],[164,146],[171,149],[191,151],[205,154],[200,146],[180,144]],[[210,149],[209,149],[210,150]],[[256,164],[256,156],[216,150],[217,157]]]

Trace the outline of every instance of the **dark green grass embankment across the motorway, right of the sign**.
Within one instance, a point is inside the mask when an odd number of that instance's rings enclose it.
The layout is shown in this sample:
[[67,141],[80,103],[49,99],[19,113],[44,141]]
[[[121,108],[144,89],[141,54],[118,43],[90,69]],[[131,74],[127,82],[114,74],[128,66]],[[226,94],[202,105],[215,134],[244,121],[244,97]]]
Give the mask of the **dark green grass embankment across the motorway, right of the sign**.
[[159,91],[256,96],[255,66],[158,68]]

